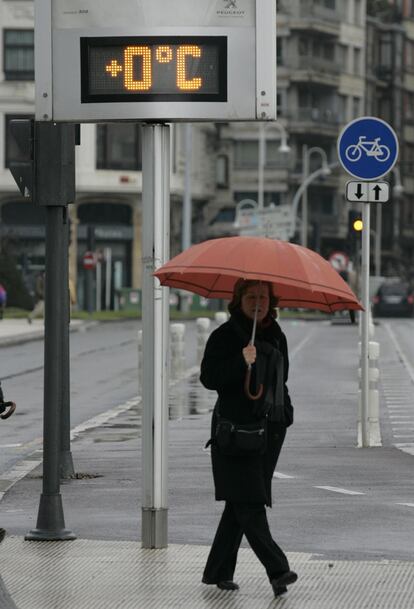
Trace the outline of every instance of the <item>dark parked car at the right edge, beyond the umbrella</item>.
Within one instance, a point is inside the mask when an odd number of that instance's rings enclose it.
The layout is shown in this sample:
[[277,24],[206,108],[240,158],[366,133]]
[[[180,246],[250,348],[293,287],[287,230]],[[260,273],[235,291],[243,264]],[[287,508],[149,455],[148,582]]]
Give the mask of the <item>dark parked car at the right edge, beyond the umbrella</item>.
[[414,290],[408,283],[383,283],[373,298],[374,317],[412,317],[414,315]]

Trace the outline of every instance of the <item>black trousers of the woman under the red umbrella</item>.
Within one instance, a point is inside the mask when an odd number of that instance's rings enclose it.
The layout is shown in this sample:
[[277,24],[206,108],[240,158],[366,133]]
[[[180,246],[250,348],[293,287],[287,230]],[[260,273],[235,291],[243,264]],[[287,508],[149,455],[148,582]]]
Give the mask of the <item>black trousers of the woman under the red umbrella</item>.
[[227,501],[204,569],[203,583],[218,584],[233,579],[243,534],[269,580],[289,571],[288,560],[270,533],[265,506]]

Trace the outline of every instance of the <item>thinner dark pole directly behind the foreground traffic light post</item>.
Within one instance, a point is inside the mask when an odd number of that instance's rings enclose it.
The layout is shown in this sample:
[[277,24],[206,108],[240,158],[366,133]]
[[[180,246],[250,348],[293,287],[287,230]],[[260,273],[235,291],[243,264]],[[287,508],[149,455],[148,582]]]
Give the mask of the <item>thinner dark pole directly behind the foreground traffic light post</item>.
[[60,477],[70,478],[74,475],[72,453],[70,450],[70,294],[69,294],[69,215],[67,207],[63,208],[62,240],[62,410],[61,410],[61,446]]

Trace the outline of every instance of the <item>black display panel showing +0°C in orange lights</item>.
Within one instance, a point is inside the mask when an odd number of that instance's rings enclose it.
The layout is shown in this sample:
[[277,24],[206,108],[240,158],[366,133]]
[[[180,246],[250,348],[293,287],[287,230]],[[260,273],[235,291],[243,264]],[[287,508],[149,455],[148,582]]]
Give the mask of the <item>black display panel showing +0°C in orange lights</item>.
[[81,38],[81,99],[227,101],[227,38]]

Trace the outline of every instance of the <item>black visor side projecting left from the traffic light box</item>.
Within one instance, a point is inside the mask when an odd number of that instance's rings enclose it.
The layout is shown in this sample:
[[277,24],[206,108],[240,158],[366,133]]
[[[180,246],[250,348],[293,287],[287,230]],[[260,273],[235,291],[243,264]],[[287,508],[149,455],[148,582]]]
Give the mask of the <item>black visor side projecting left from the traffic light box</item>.
[[9,123],[18,155],[9,162],[9,169],[24,197],[33,197],[34,183],[34,120],[16,118]]

